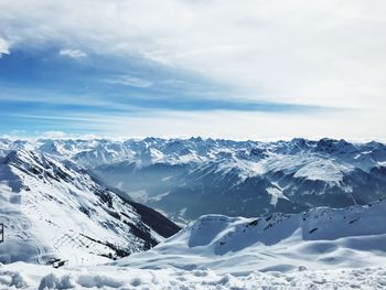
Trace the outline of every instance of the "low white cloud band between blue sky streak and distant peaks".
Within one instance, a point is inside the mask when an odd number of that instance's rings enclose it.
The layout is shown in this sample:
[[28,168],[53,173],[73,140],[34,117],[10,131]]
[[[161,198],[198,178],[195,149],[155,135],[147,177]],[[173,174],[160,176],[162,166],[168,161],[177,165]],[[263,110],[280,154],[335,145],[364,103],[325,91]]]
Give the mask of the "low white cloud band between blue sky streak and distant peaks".
[[[238,112],[238,111],[149,111],[142,114],[65,114],[63,116],[29,116],[13,117],[31,120],[50,120],[52,126],[63,126],[68,131],[97,132],[108,137],[191,137],[226,138],[238,140],[280,140],[303,137],[320,139],[324,137],[344,138],[347,140],[386,141],[383,123],[384,110],[369,112],[317,112],[317,114],[282,114],[282,112]],[[283,121],[285,120],[285,121]],[[339,121],[336,121],[339,120]],[[353,122],[355,126],[353,126]],[[154,129],[157,128],[157,130]],[[50,133],[53,136],[61,133]],[[78,135],[63,135],[63,138],[75,138]]]

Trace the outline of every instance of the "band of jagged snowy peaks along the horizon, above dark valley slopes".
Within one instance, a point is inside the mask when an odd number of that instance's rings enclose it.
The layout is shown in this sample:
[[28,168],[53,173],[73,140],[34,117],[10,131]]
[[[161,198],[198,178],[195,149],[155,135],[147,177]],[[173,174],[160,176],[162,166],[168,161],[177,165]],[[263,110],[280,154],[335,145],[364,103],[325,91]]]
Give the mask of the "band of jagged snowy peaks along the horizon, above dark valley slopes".
[[[153,164],[203,162],[208,159],[223,159],[222,152],[259,162],[269,155],[309,155],[333,159],[336,162],[361,165],[365,169],[376,162],[386,161],[386,147],[379,142],[351,143],[345,140],[321,139],[319,141],[296,138],[290,141],[258,142],[233,141],[223,139],[161,139],[115,141],[94,140],[55,140],[39,139],[35,142],[10,141],[2,139],[1,150],[36,150],[60,159],[73,159],[86,168],[130,160],[132,162]],[[144,160],[143,160],[144,159]],[[96,161],[97,160],[97,161]],[[146,161],[146,162],[142,162]]]

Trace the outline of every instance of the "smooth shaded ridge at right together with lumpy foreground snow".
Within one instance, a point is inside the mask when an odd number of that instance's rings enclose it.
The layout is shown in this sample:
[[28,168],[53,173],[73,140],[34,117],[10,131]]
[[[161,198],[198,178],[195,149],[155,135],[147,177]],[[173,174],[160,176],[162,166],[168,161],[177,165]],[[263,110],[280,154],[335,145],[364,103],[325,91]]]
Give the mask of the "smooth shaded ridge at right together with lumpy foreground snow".
[[203,216],[108,265],[0,266],[10,289],[384,289],[386,201],[258,218]]

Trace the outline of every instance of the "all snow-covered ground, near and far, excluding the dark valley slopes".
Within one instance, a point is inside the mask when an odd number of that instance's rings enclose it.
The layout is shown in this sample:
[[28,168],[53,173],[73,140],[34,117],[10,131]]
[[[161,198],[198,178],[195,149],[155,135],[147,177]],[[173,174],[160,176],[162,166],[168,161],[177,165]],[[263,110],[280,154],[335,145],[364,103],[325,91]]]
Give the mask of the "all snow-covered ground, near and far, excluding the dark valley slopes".
[[[350,173],[384,167],[384,144],[331,139],[1,139],[0,154],[8,155],[0,165],[0,219],[7,225],[0,261],[11,262],[0,265],[0,289],[386,289],[385,201],[257,218],[206,215],[159,246],[111,262],[103,256],[110,248],[83,235],[143,250],[138,237],[114,217],[125,212],[125,222],[140,225],[140,216],[118,196],[111,211],[95,195],[99,185],[82,171],[122,161],[137,167],[168,163],[224,178],[237,173],[239,182],[283,173],[341,186]],[[275,180],[266,189],[271,205],[292,197]],[[68,265],[54,269],[17,261],[44,262],[52,256],[68,259]]]

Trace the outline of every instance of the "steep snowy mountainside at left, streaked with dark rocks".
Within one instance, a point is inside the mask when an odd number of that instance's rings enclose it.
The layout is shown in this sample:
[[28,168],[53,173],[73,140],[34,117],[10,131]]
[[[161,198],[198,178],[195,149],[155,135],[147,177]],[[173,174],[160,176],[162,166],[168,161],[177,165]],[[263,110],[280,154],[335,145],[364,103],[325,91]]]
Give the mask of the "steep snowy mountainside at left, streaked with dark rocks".
[[39,150],[19,148],[0,160],[0,203],[2,262],[106,262],[179,230],[158,212]]

